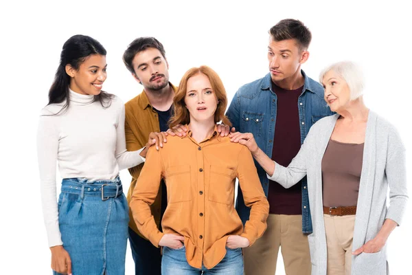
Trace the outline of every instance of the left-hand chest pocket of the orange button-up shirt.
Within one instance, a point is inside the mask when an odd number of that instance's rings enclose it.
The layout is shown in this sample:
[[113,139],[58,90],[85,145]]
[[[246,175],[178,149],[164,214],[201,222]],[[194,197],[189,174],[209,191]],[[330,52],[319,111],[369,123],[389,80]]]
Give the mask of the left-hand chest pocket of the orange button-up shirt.
[[190,165],[170,166],[166,169],[168,203],[191,201]]

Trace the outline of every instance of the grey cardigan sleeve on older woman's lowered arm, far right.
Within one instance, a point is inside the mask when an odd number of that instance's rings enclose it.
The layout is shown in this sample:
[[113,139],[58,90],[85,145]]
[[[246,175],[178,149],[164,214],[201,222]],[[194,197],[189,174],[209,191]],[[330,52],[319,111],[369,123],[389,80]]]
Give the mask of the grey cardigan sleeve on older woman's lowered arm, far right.
[[385,174],[389,184],[389,208],[386,219],[400,225],[407,206],[407,167],[405,148],[396,129],[389,132],[387,163]]

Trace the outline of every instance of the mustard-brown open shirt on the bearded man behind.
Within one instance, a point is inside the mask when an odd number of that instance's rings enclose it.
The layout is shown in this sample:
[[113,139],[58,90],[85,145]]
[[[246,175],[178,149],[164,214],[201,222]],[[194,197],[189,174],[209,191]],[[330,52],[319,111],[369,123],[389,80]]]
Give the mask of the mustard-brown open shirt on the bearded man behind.
[[[177,88],[174,87],[172,83],[169,83],[169,85],[174,91],[176,91]],[[153,109],[144,90],[141,92],[141,94],[129,100],[124,105],[126,115],[126,120],[124,122],[124,131],[126,133],[126,148],[127,151],[137,151],[146,145],[151,132],[160,132],[159,115],[155,111],[155,109]],[[128,169],[130,175],[132,175],[132,182],[130,183],[130,187],[127,193],[127,199],[129,203],[133,194],[133,189],[136,185],[137,178],[139,177],[140,171],[143,166],[144,163]],[[157,223],[157,225],[159,225],[161,216],[161,188],[151,208],[153,216],[155,217],[155,222]],[[137,226],[135,224],[135,221],[133,220],[133,215],[130,211],[130,208],[129,217],[129,227],[132,228],[133,231],[137,232],[137,234],[139,234],[140,236],[143,236],[139,232],[139,230],[137,230]]]

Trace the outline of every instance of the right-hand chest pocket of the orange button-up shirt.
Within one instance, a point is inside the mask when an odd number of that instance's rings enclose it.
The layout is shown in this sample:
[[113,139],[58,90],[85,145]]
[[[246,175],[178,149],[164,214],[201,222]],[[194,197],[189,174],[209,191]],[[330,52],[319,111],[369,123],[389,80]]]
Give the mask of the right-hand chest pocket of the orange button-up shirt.
[[235,171],[211,165],[209,174],[209,201],[233,204],[235,199]]

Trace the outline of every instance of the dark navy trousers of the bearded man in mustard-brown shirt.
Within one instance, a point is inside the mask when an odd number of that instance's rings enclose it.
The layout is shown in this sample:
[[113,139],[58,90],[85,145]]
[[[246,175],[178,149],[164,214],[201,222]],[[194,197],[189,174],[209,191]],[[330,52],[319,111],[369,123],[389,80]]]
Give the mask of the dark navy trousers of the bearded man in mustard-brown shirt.
[[128,228],[130,248],[135,261],[135,275],[160,275],[160,248],[142,238],[133,229]]

